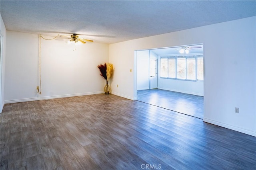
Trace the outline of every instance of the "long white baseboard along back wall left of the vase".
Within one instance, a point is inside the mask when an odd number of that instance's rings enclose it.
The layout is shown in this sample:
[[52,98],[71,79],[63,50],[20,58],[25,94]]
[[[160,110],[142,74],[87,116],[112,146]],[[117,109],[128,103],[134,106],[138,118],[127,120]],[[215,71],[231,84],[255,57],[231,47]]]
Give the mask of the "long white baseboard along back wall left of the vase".
[[16,100],[5,100],[4,104],[18,103],[18,102],[30,102],[30,101],[36,101],[36,100],[47,100],[47,99],[56,99],[56,98],[69,98],[69,97],[86,96],[86,95],[103,94],[103,93],[104,93],[104,91],[89,92],[89,93],[77,93],[77,94],[65,94],[65,95],[47,96],[47,97],[38,97],[38,98],[25,98],[25,99],[16,99]]

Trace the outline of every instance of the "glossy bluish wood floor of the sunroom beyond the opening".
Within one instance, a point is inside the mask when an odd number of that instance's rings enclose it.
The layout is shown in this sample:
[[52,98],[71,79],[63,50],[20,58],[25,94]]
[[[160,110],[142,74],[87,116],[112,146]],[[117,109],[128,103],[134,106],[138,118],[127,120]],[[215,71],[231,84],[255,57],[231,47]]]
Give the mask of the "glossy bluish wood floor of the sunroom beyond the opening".
[[204,118],[204,97],[202,96],[162,89],[150,89],[138,90],[137,98],[140,102],[163,107],[200,119]]

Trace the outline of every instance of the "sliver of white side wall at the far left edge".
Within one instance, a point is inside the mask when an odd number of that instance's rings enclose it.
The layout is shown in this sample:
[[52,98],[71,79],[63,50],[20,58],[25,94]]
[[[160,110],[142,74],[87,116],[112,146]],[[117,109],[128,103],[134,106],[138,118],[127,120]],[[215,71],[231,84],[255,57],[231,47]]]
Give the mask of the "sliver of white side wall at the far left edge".
[[4,21],[2,19],[2,16],[0,16],[1,21],[0,21],[0,34],[3,38],[2,40],[2,55],[1,55],[1,59],[0,59],[0,79],[1,79],[1,84],[0,84],[0,91],[1,91],[1,96],[0,96],[0,113],[2,113],[2,110],[4,108],[4,74],[5,74],[5,59],[6,59],[6,27],[4,25]]

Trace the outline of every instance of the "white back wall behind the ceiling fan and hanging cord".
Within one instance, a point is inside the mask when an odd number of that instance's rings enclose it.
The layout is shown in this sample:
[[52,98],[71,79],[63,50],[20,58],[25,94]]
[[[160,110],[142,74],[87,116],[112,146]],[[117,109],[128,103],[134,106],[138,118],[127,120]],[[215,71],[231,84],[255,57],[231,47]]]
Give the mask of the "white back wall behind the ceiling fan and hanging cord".
[[5,103],[103,93],[106,82],[97,65],[108,62],[109,45],[75,47],[63,40],[42,39],[42,94],[38,94],[39,35],[7,31],[7,37]]

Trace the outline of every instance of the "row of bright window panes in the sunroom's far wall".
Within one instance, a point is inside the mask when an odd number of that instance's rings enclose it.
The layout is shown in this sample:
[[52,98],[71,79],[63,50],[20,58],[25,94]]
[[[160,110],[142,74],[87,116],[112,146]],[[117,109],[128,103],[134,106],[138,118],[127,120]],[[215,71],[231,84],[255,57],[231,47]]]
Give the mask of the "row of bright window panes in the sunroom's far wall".
[[204,80],[202,55],[160,57],[160,77],[180,80]]

